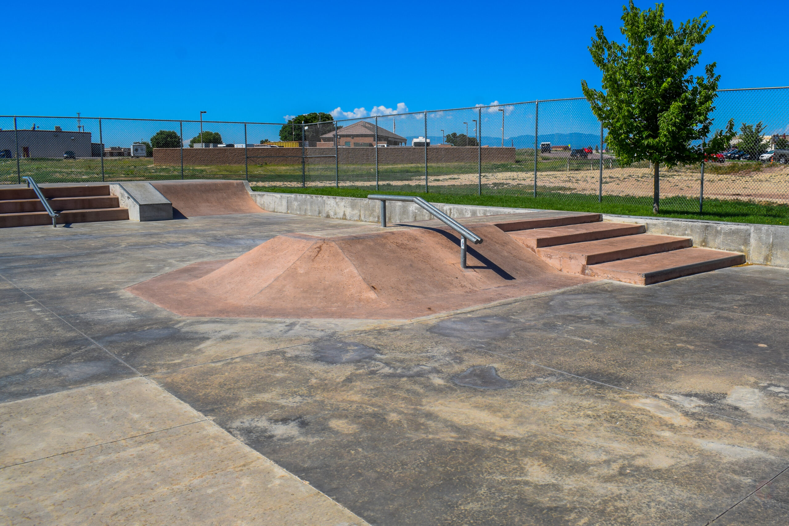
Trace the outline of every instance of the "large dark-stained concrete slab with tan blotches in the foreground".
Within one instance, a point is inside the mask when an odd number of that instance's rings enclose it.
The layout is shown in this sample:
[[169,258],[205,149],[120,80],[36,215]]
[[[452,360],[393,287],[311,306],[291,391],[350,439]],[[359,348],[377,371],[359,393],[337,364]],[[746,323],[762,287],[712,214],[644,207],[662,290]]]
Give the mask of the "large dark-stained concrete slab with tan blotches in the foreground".
[[409,328],[154,379],[373,524],[687,524],[789,462],[785,434],[469,349],[495,317]]

